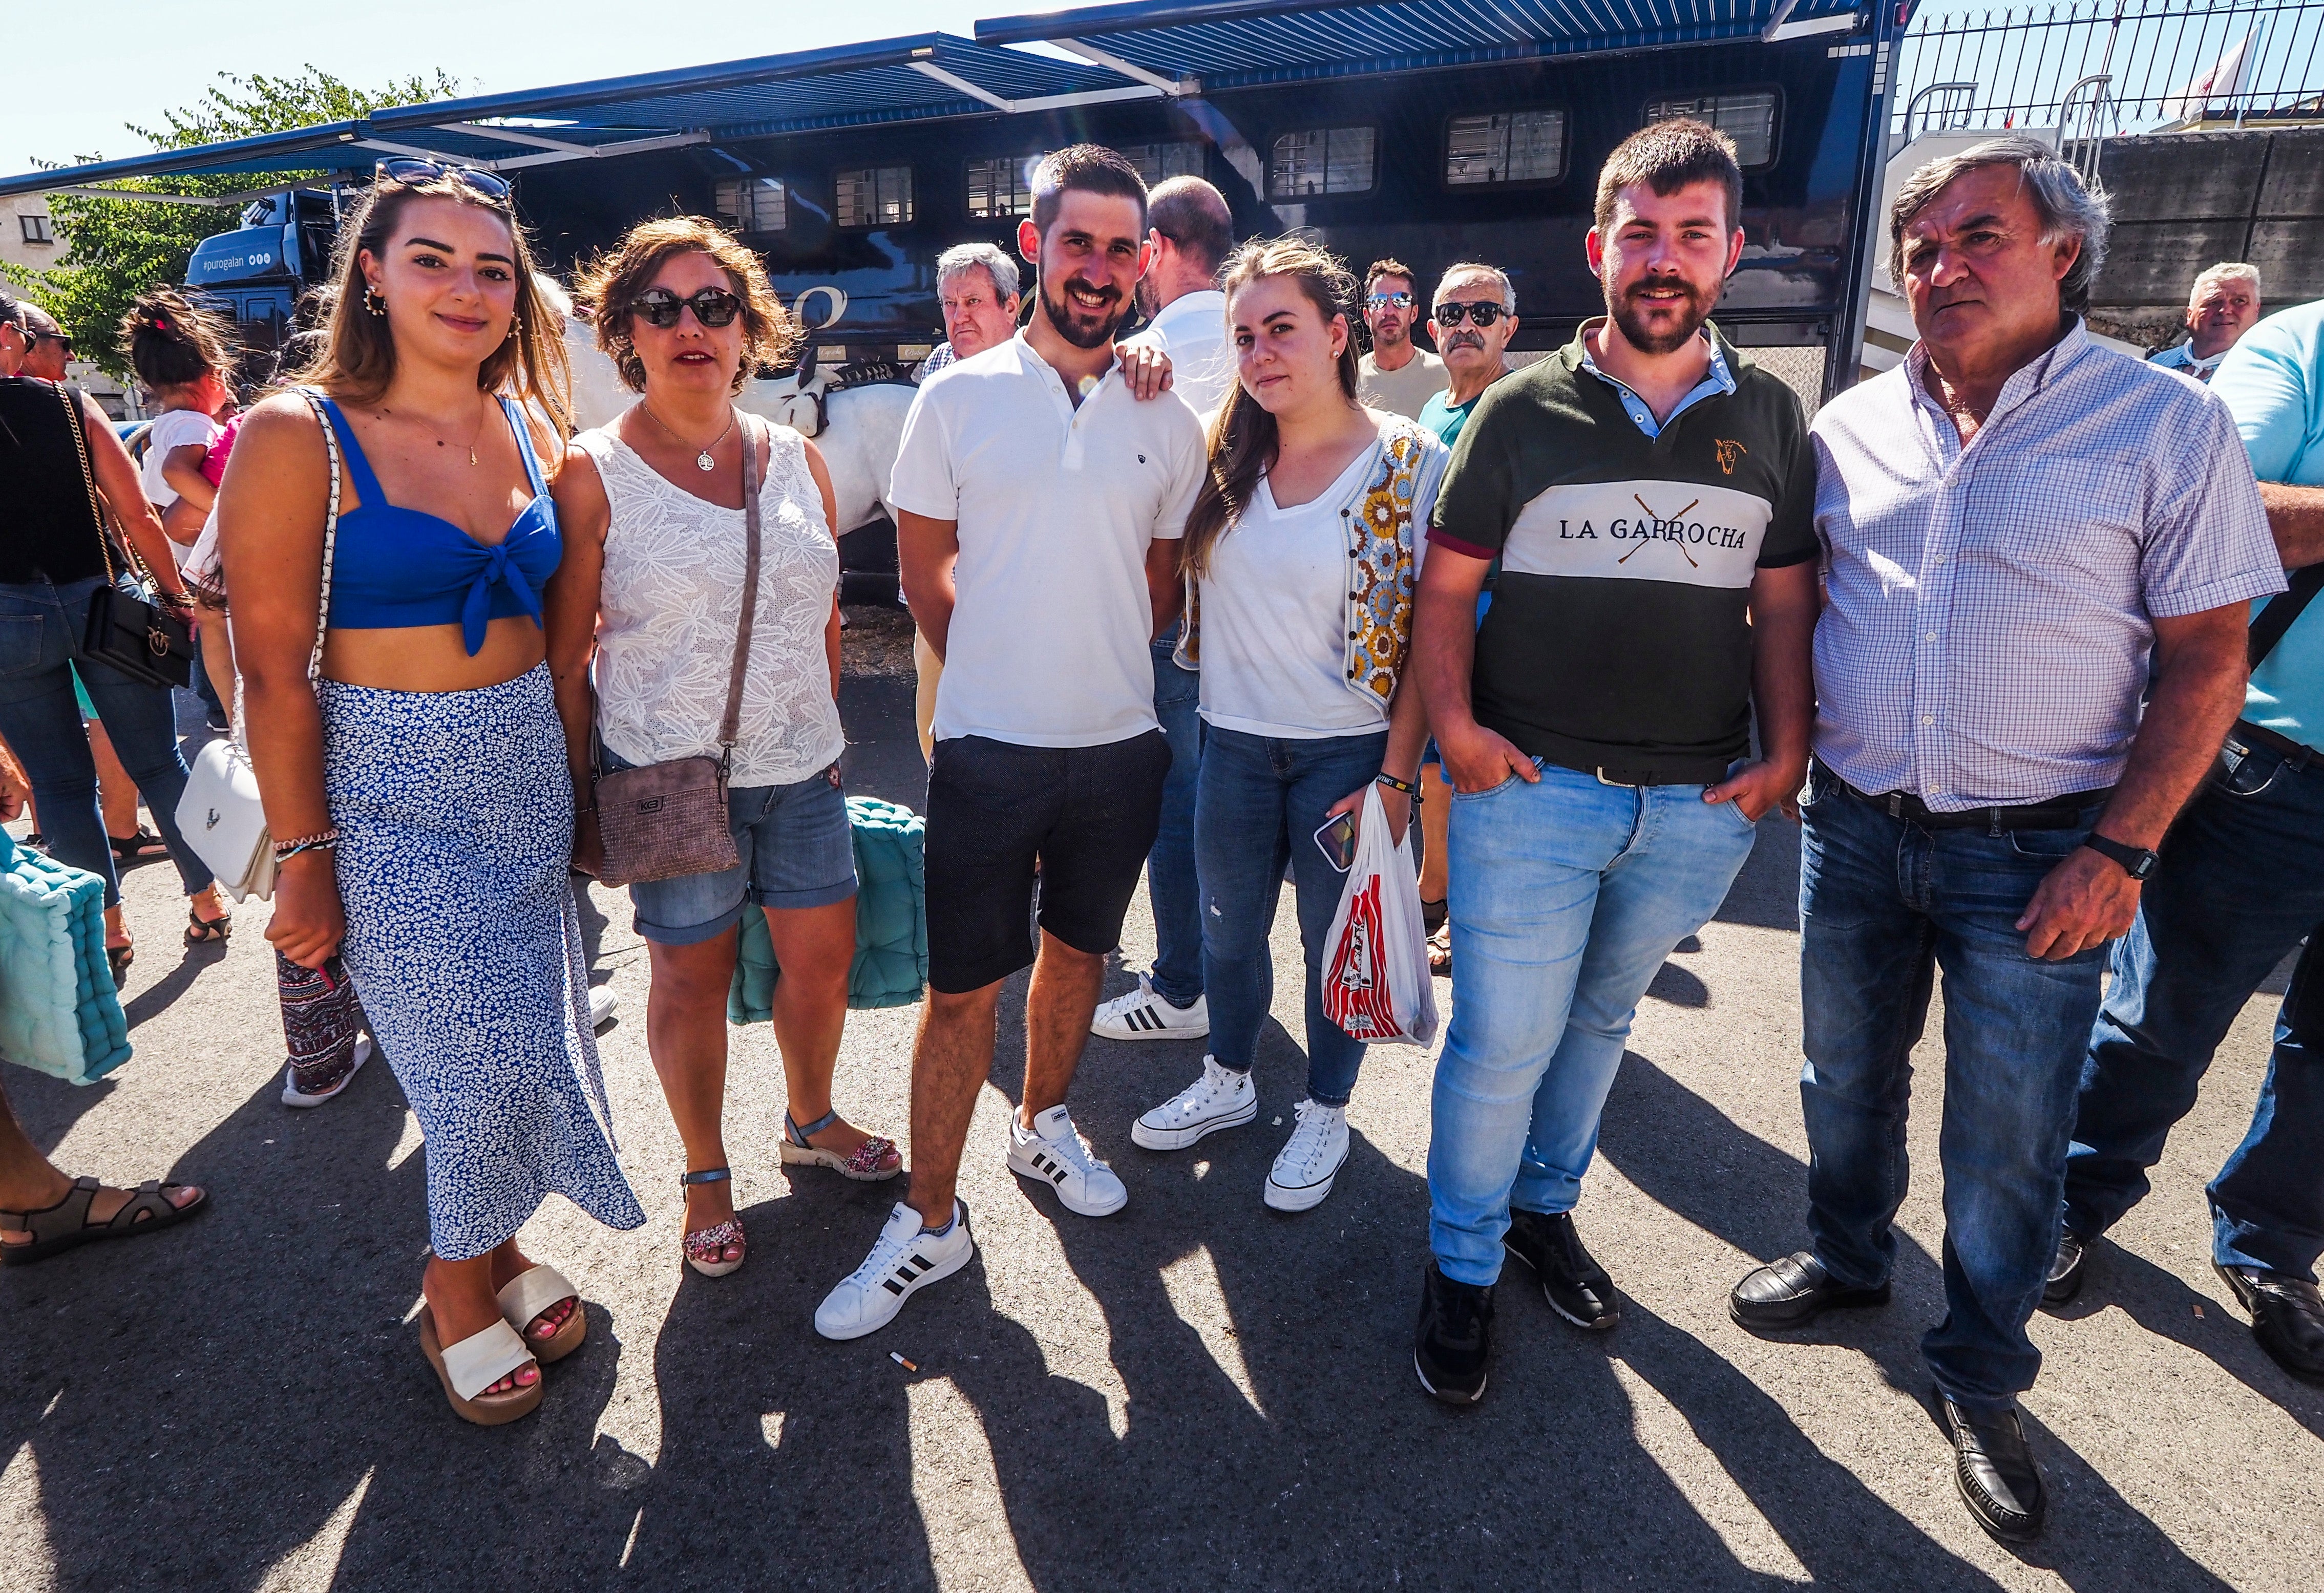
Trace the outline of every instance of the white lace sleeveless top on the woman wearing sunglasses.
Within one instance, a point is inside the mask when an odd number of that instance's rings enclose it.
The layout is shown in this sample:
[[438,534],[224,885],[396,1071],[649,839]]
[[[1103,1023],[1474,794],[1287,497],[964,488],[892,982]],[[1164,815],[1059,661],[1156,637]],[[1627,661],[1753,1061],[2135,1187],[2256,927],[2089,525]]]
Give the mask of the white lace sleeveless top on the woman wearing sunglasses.
[[[758,618],[741,687],[734,785],[792,785],[839,759],[823,627],[839,590],[839,546],[783,425],[760,488]],[[748,553],[741,509],[674,488],[602,430],[576,439],[597,462],[614,520],[597,618],[597,734],[630,764],[716,757],[741,620]]]

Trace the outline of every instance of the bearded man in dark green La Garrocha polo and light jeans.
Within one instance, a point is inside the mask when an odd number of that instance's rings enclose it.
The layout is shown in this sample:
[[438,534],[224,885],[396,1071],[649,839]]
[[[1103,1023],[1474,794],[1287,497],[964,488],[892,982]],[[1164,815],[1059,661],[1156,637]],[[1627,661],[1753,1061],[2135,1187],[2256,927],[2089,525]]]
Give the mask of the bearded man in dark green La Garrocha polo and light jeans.
[[1708,325],[1741,202],[1724,132],[1624,139],[1590,230],[1606,318],[1485,388],[1436,499],[1413,669],[1457,790],[1457,989],[1413,1365],[1452,1403],[1485,1391],[1504,1249],[1566,1321],[1620,1317],[1573,1205],[1631,1012],[1808,771],[1815,457]]

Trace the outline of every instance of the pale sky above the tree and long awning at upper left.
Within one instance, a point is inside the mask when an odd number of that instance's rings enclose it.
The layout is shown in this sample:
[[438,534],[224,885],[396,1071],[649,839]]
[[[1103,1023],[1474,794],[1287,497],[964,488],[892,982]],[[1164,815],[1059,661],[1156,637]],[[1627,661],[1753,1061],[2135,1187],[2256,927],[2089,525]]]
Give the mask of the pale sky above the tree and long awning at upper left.
[[311,60],[370,86],[444,67],[467,93],[497,93],[902,33],[967,35],[978,16],[1034,9],[1041,0],[9,0],[0,176],[144,153],[123,123],[156,125],[218,72],[286,74]]

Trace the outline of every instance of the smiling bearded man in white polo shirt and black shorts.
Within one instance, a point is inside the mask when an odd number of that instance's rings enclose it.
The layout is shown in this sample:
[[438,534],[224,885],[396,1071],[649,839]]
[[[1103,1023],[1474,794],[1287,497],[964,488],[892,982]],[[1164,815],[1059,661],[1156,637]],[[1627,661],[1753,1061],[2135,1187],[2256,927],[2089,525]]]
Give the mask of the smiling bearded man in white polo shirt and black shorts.
[[1064,1091],[1162,813],[1171,755],[1148,643],[1178,611],[1176,539],[1204,441],[1185,402],[1141,404],[1116,369],[1113,332],[1153,253],[1136,167],[1076,144],[1041,160],[1032,193],[1018,228],[1039,269],[1032,323],[920,388],[890,483],[911,613],[946,664],[927,776],[927,1010],[911,1189],[816,1310],[825,1338],[885,1326],[967,1266],[953,1187],[1002,980],[1027,964],[1009,1170],[1083,1217],[1129,1201]]

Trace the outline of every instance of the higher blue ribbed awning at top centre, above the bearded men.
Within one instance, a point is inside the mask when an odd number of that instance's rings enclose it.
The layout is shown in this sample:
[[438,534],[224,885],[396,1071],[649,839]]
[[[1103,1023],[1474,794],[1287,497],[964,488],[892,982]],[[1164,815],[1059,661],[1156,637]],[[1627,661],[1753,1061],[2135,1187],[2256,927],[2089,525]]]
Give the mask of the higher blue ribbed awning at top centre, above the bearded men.
[[1864,0],[1129,0],[976,23],[1139,81],[1246,88],[1852,28]]

